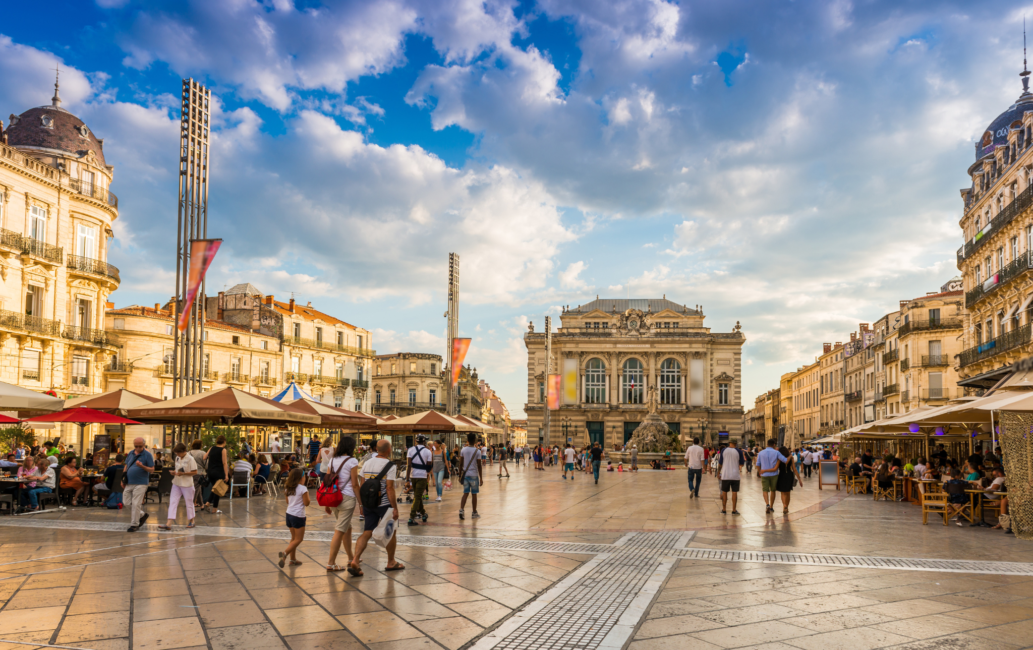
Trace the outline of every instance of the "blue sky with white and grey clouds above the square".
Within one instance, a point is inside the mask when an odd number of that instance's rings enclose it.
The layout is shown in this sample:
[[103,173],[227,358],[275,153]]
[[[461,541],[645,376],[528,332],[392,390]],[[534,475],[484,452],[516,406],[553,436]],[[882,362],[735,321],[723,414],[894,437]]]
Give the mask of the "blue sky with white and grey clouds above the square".
[[[117,306],[174,292],[181,80],[212,89],[209,292],[251,282],[444,352],[513,416],[528,321],[660,298],[743,326],[743,403],[958,275],[1010,2],[132,0],[5,8],[0,115],[104,138]],[[5,118],[6,121],[6,118]],[[558,319],[557,319],[558,320]]]

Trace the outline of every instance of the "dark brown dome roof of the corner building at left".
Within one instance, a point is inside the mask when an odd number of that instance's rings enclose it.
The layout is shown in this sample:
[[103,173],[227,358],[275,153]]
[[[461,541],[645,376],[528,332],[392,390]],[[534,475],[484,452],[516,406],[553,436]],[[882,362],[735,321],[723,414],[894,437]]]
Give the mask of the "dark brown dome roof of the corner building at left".
[[10,116],[4,131],[11,147],[32,147],[82,157],[93,151],[104,166],[104,151],[83,120],[61,106],[37,106],[19,116]]

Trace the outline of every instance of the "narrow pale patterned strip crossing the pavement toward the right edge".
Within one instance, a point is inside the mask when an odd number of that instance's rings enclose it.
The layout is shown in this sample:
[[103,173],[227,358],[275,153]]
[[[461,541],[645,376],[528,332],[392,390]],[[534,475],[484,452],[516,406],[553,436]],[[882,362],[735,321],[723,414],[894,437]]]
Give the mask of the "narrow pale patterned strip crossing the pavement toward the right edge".
[[1033,564],[1028,562],[991,562],[982,560],[881,557],[870,555],[827,555],[818,553],[772,553],[764,551],[729,551],[723,549],[674,549],[664,551],[664,554],[679,559],[716,560],[719,562],[766,562],[774,564],[812,564],[829,567],[896,568],[913,571],[1033,576]]

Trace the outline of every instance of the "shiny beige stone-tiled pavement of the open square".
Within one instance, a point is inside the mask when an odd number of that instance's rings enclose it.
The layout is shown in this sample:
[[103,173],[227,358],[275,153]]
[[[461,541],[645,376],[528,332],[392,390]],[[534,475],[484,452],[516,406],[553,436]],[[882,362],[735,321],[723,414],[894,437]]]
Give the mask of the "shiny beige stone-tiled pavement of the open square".
[[0,650],[1033,644],[1033,543],[1001,531],[922,526],[913,504],[815,479],[775,517],[747,477],[733,518],[713,477],[688,499],[684,470],[598,486],[510,471],[481,491],[480,519],[459,521],[446,493],[432,525],[402,526],[404,571],[383,572],[371,546],[361,578],[325,571],[333,521],[316,507],[304,564],[279,568],[284,503],[270,497],[224,499],[224,515],[170,533],[125,532],[125,510],[3,518]]

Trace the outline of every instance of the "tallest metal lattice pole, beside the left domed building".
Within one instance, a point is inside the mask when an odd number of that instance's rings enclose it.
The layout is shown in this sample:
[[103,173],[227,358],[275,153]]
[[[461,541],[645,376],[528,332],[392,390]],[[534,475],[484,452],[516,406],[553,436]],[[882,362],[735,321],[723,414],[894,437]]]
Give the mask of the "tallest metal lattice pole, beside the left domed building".
[[[194,240],[208,237],[209,114],[212,92],[192,79],[183,80],[180,119],[179,220],[176,231],[175,322],[183,319],[190,276],[190,248]],[[205,367],[205,284],[194,301],[181,332],[173,328],[173,397],[200,391]],[[178,440],[185,430],[179,428]]]

